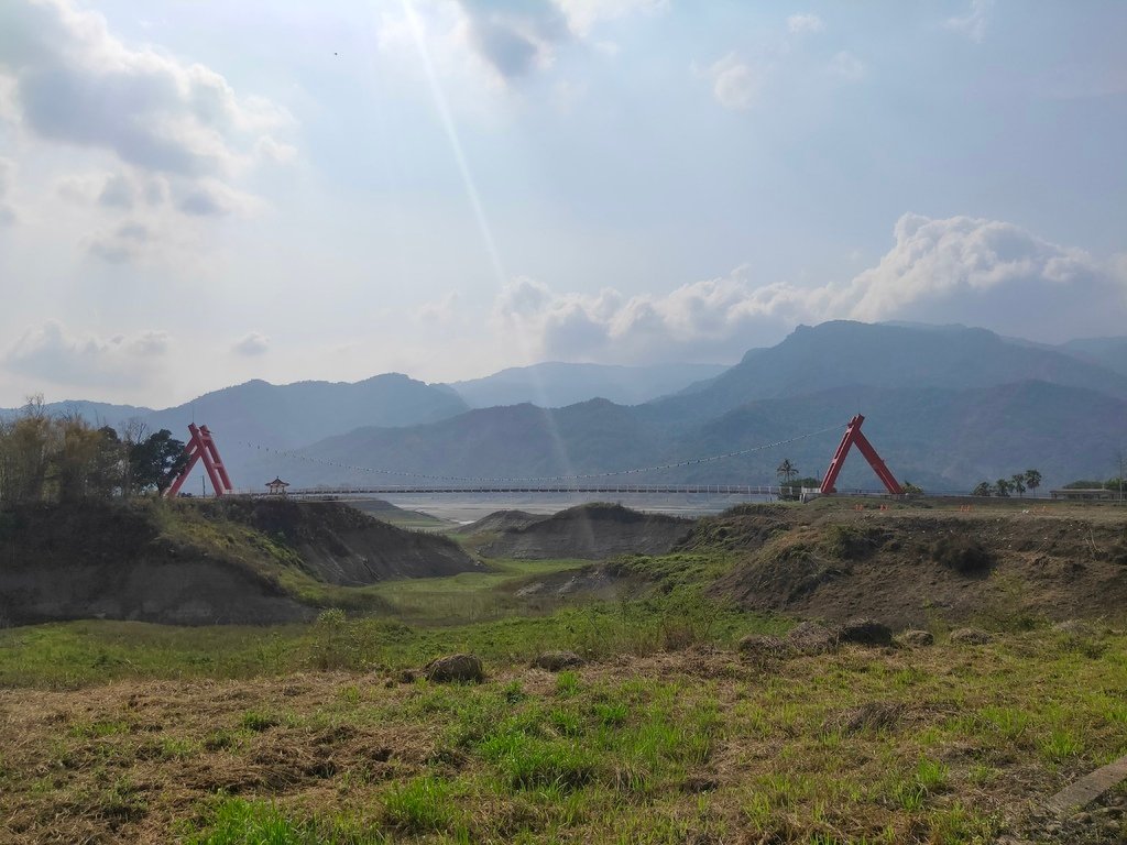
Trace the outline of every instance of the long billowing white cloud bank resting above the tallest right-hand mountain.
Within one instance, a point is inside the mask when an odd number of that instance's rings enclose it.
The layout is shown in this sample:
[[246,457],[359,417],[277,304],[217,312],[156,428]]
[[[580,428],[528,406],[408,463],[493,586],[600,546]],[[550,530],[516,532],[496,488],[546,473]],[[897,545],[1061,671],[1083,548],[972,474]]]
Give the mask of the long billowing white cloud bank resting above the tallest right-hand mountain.
[[905,214],[895,244],[850,282],[755,285],[746,268],[665,295],[556,293],[517,279],[494,321],[540,358],[731,361],[799,322],[917,320],[1061,341],[1122,333],[1127,259],[1100,263],[1010,223]]

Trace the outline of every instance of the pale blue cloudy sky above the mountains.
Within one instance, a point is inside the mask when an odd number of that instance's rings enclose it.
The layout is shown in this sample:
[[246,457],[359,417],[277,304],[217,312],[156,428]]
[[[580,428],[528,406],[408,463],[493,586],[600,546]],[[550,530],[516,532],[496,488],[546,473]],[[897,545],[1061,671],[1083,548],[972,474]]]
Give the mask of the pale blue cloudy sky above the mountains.
[[5,0],[0,407],[1127,335],[1127,3]]

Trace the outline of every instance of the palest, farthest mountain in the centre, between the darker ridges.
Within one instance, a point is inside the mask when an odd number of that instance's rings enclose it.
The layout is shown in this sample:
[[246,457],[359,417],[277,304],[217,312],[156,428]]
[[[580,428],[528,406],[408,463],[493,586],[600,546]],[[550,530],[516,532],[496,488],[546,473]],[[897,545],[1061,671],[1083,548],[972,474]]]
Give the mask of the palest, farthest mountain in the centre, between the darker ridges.
[[687,384],[719,375],[724,364],[665,364],[657,366],[607,366],[549,362],[502,370],[483,379],[454,382],[450,386],[471,408],[532,402],[541,408],[562,408],[588,399],[609,399],[638,404],[675,393]]

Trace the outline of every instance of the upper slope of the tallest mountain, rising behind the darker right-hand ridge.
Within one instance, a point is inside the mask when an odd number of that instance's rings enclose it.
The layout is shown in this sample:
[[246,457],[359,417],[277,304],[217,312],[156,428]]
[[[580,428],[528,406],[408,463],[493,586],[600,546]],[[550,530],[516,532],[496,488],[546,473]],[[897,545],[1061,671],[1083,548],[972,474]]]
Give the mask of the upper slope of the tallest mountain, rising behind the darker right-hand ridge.
[[1008,343],[985,329],[834,321],[800,326],[778,346],[751,350],[710,383],[648,408],[665,425],[684,425],[754,400],[850,384],[965,390],[1028,380],[1127,398],[1124,375],[1063,352]]

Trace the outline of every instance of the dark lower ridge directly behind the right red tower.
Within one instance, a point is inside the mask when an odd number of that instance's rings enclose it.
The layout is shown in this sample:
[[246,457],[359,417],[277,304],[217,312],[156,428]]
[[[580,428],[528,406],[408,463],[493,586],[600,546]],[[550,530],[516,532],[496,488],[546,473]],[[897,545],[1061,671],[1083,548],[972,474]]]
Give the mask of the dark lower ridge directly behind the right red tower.
[[[1094,391],[1027,381],[952,391],[938,388],[846,388],[808,397],[762,400],[710,420],[678,439],[675,454],[717,454],[816,432],[831,433],[778,448],[703,464],[693,481],[773,481],[783,457],[820,478],[845,422],[863,412],[863,432],[897,479],[934,491],[1037,469],[1045,489],[1113,473],[1127,401]],[[851,453],[838,489],[879,489],[864,459]]]

